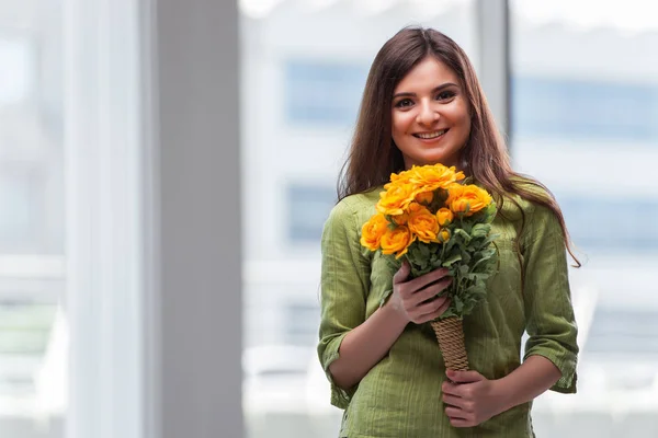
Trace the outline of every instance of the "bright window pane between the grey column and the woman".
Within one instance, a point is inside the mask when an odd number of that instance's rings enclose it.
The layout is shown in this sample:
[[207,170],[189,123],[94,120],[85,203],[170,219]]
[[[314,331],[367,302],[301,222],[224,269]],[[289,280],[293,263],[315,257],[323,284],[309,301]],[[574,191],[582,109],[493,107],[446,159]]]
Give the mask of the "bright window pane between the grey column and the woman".
[[336,437],[341,411],[316,354],[319,240],[367,71],[386,39],[413,23],[445,32],[477,64],[474,2],[240,7],[247,431]]

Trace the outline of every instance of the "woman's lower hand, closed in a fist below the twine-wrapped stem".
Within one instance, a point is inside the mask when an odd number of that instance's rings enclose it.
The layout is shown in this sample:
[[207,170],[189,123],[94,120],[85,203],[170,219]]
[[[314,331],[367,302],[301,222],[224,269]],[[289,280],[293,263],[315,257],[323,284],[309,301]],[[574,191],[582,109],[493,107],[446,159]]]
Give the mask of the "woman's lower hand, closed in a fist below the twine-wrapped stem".
[[443,382],[443,403],[454,427],[477,426],[506,410],[499,381],[477,371],[447,370],[446,376],[452,382]]

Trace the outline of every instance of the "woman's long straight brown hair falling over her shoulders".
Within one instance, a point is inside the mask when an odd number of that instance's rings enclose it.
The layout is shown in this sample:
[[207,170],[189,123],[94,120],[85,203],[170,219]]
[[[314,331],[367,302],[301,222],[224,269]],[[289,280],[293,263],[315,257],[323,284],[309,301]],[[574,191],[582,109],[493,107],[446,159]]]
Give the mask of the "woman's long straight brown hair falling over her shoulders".
[[[426,57],[433,56],[460,78],[470,111],[470,136],[462,148],[463,171],[500,203],[518,203],[510,194],[549,208],[561,227],[565,245],[576,262],[563,212],[553,194],[540,182],[512,170],[475,69],[464,50],[450,37],[422,27],[405,27],[384,44],[367,76],[349,157],[338,183],[339,200],[370,192],[405,170],[402,154],[392,138],[393,94],[402,78]],[[533,191],[532,186],[541,191]]]

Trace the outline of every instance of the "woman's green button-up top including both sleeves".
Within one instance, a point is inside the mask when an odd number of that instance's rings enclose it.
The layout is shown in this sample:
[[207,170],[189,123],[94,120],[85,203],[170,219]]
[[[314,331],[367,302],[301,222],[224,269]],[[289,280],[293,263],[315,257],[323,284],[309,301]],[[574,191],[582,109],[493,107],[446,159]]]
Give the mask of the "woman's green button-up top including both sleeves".
[[[360,244],[362,224],[375,214],[381,188],[342,199],[322,233],[321,323],[318,355],[331,382],[331,404],[343,408],[340,438],[533,437],[532,403],[473,428],[455,428],[445,415],[441,383],[445,367],[429,323],[409,323],[388,354],[349,391],[338,388],[329,365],[344,335],[372,315],[392,291],[395,268]],[[469,366],[487,379],[509,374],[525,357],[540,355],[561,371],[552,388],[576,392],[577,327],[566,249],[555,215],[514,196],[494,221],[498,274],[487,301],[464,318]]]

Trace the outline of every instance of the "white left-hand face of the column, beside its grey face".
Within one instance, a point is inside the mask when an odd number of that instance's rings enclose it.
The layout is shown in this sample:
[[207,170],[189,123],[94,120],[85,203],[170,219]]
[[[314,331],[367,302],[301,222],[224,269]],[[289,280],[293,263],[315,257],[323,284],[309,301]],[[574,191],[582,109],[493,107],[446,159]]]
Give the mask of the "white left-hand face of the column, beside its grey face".
[[143,433],[137,2],[64,1],[68,438]]

